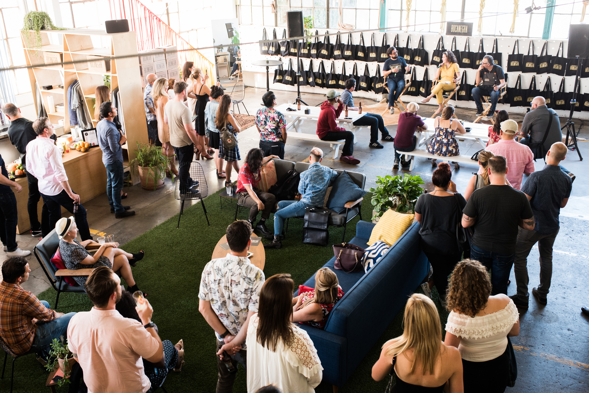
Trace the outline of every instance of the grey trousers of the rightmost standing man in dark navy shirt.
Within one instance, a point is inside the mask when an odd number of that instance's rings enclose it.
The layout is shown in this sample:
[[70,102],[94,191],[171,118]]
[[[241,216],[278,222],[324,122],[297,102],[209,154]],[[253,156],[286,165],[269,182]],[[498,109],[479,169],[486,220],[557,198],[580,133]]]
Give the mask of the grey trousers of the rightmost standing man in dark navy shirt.
[[519,228],[514,262],[515,282],[517,283],[517,296],[519,299],[527,301],[530,298],[530,293],[528,293],[528,282],[530,282],[528,277],[528,255],[530,255],[530,251],[536,243],[538,243],[538,250],[540,251],[538,294],[542,298],[548,295],[552,279],[552,245],[554,245],[558,230],[548,235],[542,235],[535,230]]

